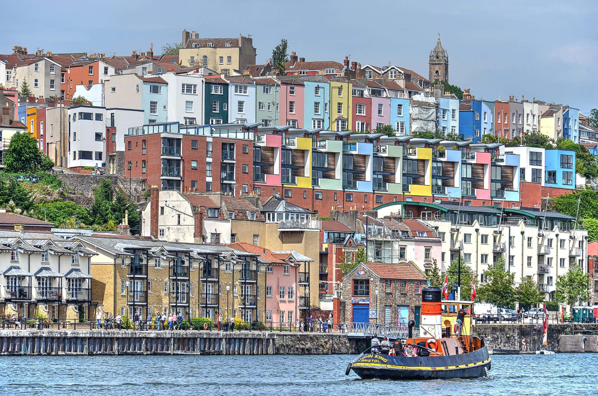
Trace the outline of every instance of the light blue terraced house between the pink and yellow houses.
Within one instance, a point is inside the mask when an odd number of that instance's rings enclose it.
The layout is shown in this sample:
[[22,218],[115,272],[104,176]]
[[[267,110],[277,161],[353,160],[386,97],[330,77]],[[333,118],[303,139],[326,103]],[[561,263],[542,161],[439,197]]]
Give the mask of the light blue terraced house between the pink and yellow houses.
[[303,76],[305,83],[305,127],[325,128],[330,126],[330,83],[325,76]]

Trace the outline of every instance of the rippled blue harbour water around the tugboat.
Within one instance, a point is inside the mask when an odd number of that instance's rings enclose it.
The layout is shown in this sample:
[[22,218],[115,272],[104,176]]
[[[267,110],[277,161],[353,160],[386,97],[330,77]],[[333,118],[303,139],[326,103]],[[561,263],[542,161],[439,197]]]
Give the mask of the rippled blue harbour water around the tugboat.
[[[590,395],[597,354],[495,355],[489,377],[393,382],[344,375],[356,355],[2,356],[4,395]],[[399,393],[400,392],[400,393]]]

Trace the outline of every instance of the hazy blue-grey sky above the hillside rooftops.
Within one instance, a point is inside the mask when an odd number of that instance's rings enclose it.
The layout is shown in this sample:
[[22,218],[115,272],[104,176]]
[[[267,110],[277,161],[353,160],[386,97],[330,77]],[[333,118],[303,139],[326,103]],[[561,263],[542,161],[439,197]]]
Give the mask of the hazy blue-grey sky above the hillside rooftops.
[[[71,4],[69,4],[71,3]],[[598,1],[275,2],[20,1],[3,5],[0,53],[154,53],[180,42],[182,30],[202,38],[251,34],[257,63],[286,38],[306,60],[345,56],[361,65],[393,65],[428,76],[428,56],[441,35],[449,82],[477,99],[544,100],[598,108]],[[23,8],[33,8],[27,18]]]

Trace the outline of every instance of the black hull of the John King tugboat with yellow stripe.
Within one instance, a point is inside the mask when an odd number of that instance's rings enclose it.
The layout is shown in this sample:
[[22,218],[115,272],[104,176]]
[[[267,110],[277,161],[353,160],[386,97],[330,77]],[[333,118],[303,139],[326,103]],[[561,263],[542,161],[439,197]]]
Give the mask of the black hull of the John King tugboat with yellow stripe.
[[486,346],[477,351],[438,357],[361,354],[350,366],[364,379],[449,379],[487,376],[490,356]]

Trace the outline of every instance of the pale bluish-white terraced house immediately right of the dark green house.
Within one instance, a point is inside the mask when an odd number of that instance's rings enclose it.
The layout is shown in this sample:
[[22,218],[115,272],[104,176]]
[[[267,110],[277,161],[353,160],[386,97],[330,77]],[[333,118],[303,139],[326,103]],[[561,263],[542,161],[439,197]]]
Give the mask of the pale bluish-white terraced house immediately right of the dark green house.
[[[227,77],[228,122],[252,124],[255,122],[255,82],[249,75]],[[261,122],[261,119],[260,119]]]

